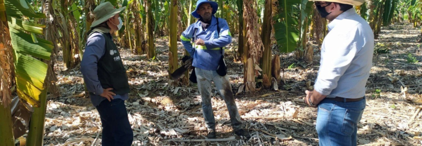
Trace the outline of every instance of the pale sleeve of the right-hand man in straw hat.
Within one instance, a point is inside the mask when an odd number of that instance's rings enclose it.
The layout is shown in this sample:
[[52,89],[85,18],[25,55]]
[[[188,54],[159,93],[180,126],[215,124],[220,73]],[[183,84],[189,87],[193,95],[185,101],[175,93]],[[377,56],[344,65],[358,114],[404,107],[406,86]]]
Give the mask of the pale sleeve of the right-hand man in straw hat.
[[351,28],[324,40],[324,56],[315,82],[315,91],[328,96],[337,88],[337,82],[348,70],[356,53],[362,49],[359,39],[359,30]]

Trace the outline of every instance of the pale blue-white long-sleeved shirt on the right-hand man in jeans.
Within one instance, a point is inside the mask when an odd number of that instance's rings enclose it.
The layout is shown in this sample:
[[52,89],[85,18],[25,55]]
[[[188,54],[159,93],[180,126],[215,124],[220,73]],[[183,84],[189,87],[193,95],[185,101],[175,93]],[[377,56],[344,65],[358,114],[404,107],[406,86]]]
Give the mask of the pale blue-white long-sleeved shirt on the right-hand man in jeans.
[[359,98],[372,68],[373,33],[351,8],[328,24],[315,91],[327,97]]

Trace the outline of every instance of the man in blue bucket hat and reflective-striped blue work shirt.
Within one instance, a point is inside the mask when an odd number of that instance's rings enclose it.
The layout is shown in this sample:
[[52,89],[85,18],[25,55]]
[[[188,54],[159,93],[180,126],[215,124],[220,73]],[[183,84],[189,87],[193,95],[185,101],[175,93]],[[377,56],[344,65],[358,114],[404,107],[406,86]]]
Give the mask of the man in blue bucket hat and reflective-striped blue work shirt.
[[[192,66],[195,69],[192,74],[196,74],[196,79],[191,78],[191,81],[198,82],[202,98],[202,114],[208,129],[207,138],[216,138],[215,119],[211,104],[211,81],[214,82],[227,105],[234,134],[250,138],[248,132],[242,129],[243,123],[223,61],[223,47],[231,43],[230,30],[224,19],[214,16],[217,9],[218,3],[215,1],[198,0],[197,8],[192,12],[192,16],[199,21],[191,24],[182,33],[180,40],[193,57]],[[188,66],[190,66],[189,63]],[[222,66],[224,69],[221,69]]]

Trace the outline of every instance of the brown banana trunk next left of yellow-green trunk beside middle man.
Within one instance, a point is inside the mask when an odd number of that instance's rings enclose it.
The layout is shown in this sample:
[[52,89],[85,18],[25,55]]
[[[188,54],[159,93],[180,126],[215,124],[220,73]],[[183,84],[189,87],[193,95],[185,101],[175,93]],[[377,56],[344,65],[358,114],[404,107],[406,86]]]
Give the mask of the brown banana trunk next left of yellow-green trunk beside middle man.
[[145,0],[145,2],[146,2],[146,10],[147,10],[147,33],[148,33],[147,59],[153,59],[155,57],[154,25],[153,25],[154,19],[152,16],[151,0]]

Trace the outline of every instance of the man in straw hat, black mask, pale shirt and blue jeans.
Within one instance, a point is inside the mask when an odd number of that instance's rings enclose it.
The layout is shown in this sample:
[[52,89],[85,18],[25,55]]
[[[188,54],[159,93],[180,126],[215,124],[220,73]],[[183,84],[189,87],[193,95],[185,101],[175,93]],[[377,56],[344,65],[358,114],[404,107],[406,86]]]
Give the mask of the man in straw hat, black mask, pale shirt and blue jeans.
[[315,0],[321,16],[330,21],[314,90],[305,92],[306,103],[318,106],[320,146],[356,146],[374,46],[371,27],[353,8],[363,2]]

